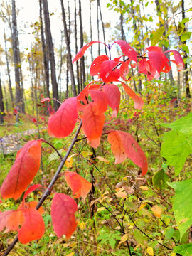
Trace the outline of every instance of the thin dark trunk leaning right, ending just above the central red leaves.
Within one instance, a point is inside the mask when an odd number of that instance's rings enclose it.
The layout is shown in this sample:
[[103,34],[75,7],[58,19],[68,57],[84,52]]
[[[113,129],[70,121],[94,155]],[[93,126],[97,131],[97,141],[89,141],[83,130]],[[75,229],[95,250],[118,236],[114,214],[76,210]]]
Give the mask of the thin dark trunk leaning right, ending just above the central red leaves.
[[65,16],[65,9],[64,9],[63,0],[60,0],[60,4],[61,4],[61,10],[62,10],[62,17],[63,17],[65,43],[66,43],[67,51],[68,51],[68,67],[69,67],[69,70],[70,70],[71,87],[72,87],[72,91],[73,91],[73,96],[76,96],[77,91],[76,91],[76,87],[75,87],[75,78],[74,78],[74,73],[73,73],[73,63],[72,63],[72,58],[71,58],[71,53],[70,53],[70,39],[69,39],[69,36],[68,36],[68,28],[67,28],[67,23],[66,23],[66,16]]

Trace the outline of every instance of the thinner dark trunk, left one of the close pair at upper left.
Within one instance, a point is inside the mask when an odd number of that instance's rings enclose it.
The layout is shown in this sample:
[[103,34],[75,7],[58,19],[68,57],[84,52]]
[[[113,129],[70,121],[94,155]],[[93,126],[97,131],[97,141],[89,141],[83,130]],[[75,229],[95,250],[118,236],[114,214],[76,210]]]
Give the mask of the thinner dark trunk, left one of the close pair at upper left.
[[46,97],[50,98],[49,92],[49,67],[48,67],[48,47],[46,46],[45,36],[43,31],[43,18],[42,18],[42,0],[39,0],[39,17],[41,21],[41,43],[42,43],[42,50],[43,50],[43,64],[45,70],[45,80],[46,80]]

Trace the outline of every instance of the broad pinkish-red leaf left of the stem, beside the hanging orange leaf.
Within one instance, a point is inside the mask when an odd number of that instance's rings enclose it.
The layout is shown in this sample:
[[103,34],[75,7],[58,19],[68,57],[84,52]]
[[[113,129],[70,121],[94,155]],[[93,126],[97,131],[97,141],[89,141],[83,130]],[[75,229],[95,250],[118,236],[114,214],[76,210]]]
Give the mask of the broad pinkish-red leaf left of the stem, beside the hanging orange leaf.
[[49,117],[48,134],[57,138],[67,137],[73,132],[77,119],[77,97],[70,97]]

